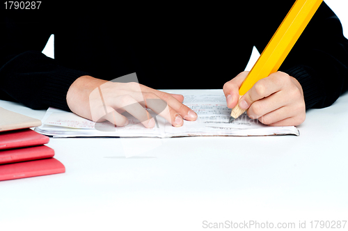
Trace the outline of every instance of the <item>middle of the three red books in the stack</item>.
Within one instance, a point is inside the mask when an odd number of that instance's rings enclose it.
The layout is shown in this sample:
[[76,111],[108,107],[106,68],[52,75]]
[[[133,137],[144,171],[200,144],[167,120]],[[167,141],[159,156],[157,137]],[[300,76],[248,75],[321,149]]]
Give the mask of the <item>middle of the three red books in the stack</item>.
[[33,159],[45,159],[50,157],[54,157],[54,150],[45,145],[29,148],[16,148],[0,151],[0,164],[31,161]]

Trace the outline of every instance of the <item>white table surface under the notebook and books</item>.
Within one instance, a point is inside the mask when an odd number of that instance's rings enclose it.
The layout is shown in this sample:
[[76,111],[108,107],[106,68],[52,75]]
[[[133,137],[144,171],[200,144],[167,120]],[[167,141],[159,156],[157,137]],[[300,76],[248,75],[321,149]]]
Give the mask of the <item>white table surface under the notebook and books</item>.
[[205,224],[230,221],[296,229],[306,221],[309,229],[310,221],[347,221],[347,118],[346,94],[308,111],[300,136],[51,138],[66,173],[0,182],[0,230],[211,230]]

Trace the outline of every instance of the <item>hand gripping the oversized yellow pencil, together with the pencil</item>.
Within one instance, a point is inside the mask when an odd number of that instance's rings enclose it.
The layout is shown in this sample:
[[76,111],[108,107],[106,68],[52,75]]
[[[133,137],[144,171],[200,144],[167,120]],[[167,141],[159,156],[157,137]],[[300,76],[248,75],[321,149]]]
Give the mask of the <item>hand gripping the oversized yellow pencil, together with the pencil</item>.
[[[259,118],[268,125],[299,125],[304,121],[306,106],[301,84],[277,70],[321,3],[322,0],[296,0],[251,72],[246,75],[242,72],[241,77],[239,74],[239,78],[235,77],[223,86],[228,106],[234,106],[230,122],[246,109],[249,109],[248,116]],[[266,108],[262,109],[262,106]]]

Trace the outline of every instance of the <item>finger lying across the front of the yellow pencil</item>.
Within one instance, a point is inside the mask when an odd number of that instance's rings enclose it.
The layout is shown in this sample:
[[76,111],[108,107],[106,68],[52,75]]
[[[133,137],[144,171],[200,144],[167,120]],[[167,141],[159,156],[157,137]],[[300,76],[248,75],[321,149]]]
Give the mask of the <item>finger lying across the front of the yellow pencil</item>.
[[283,75],[287,75],[287,77],[289,77],[288,74],[283,72],[276,72],[274,74],[270,74],[269,77],[260,79],[243,95],[241,99],[239,99],[239,107],[241,109],[248,109],[253,102],[264,97],[268,97],[269,95],[281,90],[283,88],[283,78],[281,78]]

